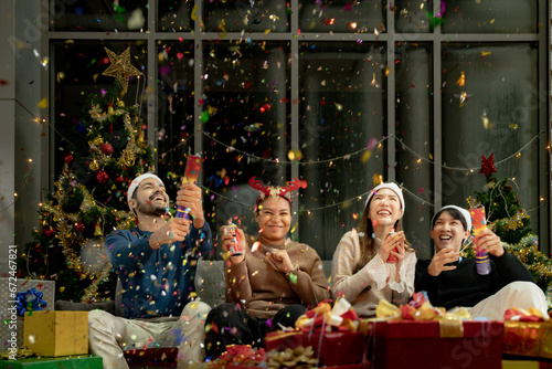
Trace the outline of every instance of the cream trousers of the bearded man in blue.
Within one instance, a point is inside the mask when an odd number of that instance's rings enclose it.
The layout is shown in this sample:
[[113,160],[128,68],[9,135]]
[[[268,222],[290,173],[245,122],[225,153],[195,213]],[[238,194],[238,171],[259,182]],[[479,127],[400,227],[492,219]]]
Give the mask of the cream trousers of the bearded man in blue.
[[203,302],[187,304],[179,318],[126,319],[92,310],[88,313],[91,352],[103,358],[104,369],[127,369],[123,351],[155,347],[156,341],[174,341],[180,342],[177,368],[188,368],[190,362],[203,360],[203,324],[209,310],[211,307]]

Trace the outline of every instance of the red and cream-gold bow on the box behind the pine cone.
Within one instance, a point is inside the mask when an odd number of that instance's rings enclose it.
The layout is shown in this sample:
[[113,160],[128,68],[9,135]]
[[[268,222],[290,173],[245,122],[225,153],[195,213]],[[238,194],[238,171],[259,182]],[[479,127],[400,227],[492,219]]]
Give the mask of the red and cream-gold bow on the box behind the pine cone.
[[307,310],[295,323],[295,327],[302,330],[325,329],[331,331],[332,327],[338,330],[357,331],[353,321],[359,320],[351,304],[344,298],[336,302],[333,307],[328,303],[320,303],[314,309]]

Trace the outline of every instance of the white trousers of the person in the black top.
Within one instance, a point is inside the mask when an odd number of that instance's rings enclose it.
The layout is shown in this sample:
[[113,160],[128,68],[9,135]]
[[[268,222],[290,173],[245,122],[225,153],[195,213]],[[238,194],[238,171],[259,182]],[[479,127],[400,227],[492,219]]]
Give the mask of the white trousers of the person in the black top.
[[471,318],[485,317],[489,320],[503,320],[505,312],[512,307],[538,308],[544,318],[546,297],[542,289],[532,282],[512,282],[495,295],[480,301],[470,309]]

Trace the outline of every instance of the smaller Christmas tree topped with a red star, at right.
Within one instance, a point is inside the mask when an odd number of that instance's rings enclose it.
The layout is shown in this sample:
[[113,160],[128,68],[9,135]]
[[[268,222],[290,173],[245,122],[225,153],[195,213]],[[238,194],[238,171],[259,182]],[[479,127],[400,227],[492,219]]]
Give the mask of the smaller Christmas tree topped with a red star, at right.
[[[485,207],[487,226],[497,234],[505,249],[516,255],[531,272],[537,284],[548,294],[549,306],[552,304],[552,261],[539,251],[539,239],[532,233],[530,219],[518,201],[509,178],[498,180],[492,162],[482,157],[481,173],[485,175],[487,184],[482,191],[476,191],[475,197],[467,199],[468,207],[476,204]],[[464,256],[474,256],[474,244],[464,249]]]

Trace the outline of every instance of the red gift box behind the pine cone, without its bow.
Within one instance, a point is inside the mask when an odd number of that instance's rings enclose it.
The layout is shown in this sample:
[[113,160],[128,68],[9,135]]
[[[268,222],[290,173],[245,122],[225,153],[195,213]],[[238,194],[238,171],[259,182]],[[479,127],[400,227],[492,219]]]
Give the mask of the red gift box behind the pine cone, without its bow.
[[367,337],[360,331],[274,331],[265,337],[266,350],[283,351],[311,346],[318,366],[368,365]]

